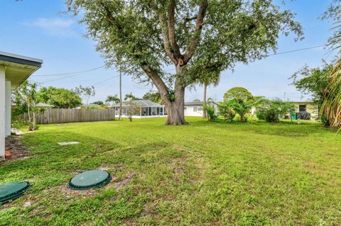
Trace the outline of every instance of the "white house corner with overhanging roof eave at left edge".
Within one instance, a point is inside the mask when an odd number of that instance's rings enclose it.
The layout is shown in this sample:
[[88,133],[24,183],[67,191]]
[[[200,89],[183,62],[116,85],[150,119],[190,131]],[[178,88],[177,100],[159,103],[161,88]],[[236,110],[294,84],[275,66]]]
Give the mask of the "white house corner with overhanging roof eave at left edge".
[[0,159],[5,158],[5,137],[11,135],[11,89],[41,67],[43,60],[0,52]]

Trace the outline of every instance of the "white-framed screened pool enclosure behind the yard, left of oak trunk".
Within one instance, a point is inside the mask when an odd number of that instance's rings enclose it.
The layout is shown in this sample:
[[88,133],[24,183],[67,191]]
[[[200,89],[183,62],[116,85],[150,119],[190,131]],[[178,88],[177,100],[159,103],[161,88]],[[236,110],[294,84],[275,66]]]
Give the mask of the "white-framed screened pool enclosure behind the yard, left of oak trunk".
[[[149,100],[134,101],[134,104],[139,108],[140,111],[136,111],[133,118],[153,118],[153,117],[163,117],[167,115],[165,111],[165,106],[154,103]],[[122,103],[122,117],[127,117],[127,102]],[[119,103],[109,106],[109,108],[115,109],[115,115],[119,116]]]

